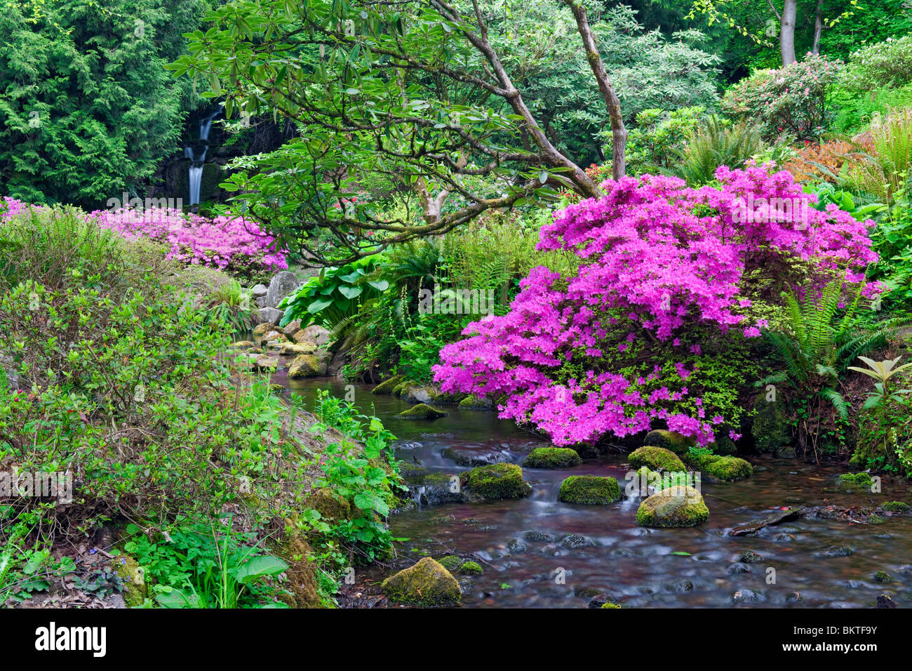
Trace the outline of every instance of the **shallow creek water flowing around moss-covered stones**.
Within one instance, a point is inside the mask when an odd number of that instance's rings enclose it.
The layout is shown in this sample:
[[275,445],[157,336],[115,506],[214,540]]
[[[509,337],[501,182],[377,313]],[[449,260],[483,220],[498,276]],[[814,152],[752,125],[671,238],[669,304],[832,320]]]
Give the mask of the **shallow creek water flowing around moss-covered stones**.
[[[335,380],[289,381],[274,375],[287,393],[302,394],[313,407],[318,389],[344,396]],[[490,411],[460,410],[437,420],[396,416],[410,404],[369,393],[355,385],[355,404],[377,414],[398,436],[397,455],[431,472],[459,474],[442,456],[450,447],[463,453],[497,453],[522,464],[535,446],[547,445],[513,422]],[[747,456],[753,477],[731,484],[702,483],[710,519],[693,529],[644,529],[637,526],[639,499],[611,506],[576,506],[557,501],[561,481],[570,475],[617,477],[625,488],[629,467],[623,454],[587,458],[564,470],[523,469],[533,486],[528,498],[484,503],[415,506],[392,515],[397,543],[395,568],[425,554],[472,557],[484,568],[461,576],[463,605],[475,607],[585,607],[607,593],[615,603],[639,607],[844,607],[866,608],[888,593],[900,607],[912,604],[912,517],[896,515],[877,524],[805,518],[731,537],[735,525],[784,506],[871,506],[912,500],[910,488],[885,477],[882,493],[834,491],[844,467],[816,466],[801,460]],[[570,537],[567,540],[567,537]],[[519,541],[519,542],[516,542]],[[834,547],[848,556],[823,556]],[[744,563],[741,553],[762,559]],[[392,570],[376,570],[381,580]],[[886,571],[892,582],[876,582]]]

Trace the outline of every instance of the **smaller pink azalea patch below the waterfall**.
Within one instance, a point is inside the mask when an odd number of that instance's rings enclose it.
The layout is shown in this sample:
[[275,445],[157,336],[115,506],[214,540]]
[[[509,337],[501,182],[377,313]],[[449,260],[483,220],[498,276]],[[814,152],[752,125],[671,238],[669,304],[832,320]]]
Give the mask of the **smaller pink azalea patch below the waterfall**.
[[143,236],[170,245],[168,258],[188,265],[218,267],[247,277],[288,267],[285,253],[275,249],[275,238],[241,216],[206,219],[154,207],[96,210],[89,216],[123,236]]

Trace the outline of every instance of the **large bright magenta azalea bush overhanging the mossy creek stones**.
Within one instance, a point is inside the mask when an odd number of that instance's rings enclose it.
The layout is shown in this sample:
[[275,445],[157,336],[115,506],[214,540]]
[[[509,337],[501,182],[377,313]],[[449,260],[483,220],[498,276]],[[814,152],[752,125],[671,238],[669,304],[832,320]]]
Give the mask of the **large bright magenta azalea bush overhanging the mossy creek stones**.
[[768,165],[716,177],[720,188],[608,180],[605,197],[556,212],[538,248],[580,257],[577,275],[534,268],[507,315],[473,322],[440,351],[443,391],[505,394],[502,417],[558,445],[663,424],[700,445],[723,426],[737,439],[737,385],[757,379],[750,339],[767,325],[755,302],[833,274],[860,281],[876,260],[874,223],[835,207],[806,208],[806,222],[783,216],[773,204],[814,196]]

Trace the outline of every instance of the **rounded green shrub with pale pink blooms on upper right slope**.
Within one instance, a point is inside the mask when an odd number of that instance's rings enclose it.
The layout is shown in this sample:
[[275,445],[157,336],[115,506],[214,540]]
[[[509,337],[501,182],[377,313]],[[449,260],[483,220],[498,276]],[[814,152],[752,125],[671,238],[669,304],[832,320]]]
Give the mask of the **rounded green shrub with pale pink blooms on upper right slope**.
[[734,121],[756,123],[767,139],[783,133],[817,139],[833,121],[826,92],[842,67],[841,60],[807,54],[786,68],[759,70],[726,91],[722,113]]

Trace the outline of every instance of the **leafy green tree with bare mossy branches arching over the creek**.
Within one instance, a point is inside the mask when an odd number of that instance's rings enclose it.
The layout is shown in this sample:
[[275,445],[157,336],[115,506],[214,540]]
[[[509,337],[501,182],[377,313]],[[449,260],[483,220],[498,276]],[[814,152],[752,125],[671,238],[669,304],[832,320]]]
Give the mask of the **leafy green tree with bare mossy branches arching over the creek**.
[[[235,165],[235,203],[306,258],[329,262],[328,232],[348,255],[445,233],[492,207],[601,191],[558,150],[531,110],[522,71],[495,33],[503,2],[249,0],[223,5],[190,54],[171,66],[209,82],[229,119],[268,114],[298,136]],[[551,0],[571,17],[613,130],[624,174],[627,130],[582,0]],[[499,24],[504,26],[503,22]],[[513,50],[514,51],[514,50]],[[526,58],[530,58],[527,56]],[[423,222],[379,213],[356,197],[381,176],[420,198]]]

